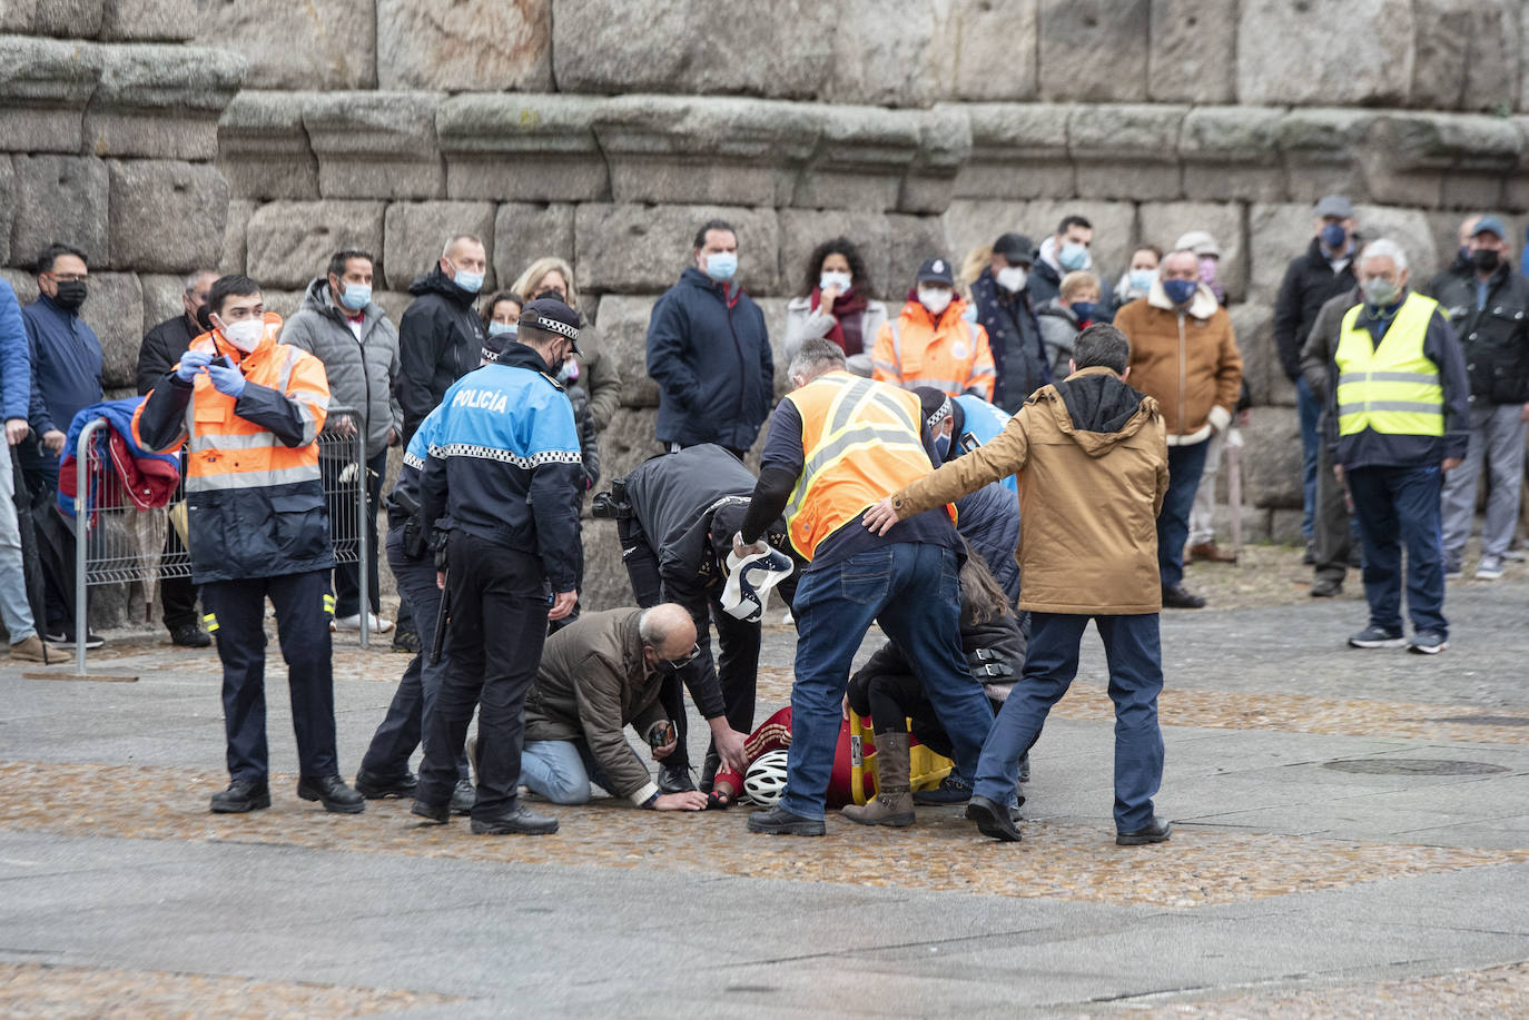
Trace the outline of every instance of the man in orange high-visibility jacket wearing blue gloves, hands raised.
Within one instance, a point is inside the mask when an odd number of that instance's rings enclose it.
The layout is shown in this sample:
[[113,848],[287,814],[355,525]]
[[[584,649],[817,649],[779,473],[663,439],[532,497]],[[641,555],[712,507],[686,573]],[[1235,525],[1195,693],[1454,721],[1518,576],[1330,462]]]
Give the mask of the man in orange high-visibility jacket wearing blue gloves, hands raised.
[[277,343],[281,320],[260,286],[222,277],[208,292],[213,330],[197,336],[133,417],[139,445],[187,445],[191,580],[223,661],[228,789],[214,814],[271,806],[266,757],[266,596],[277,610],[292,688],[303,800],[356,814],[361,794],[339,778],[329,644],[333,596],[318,433],[329,379],[313,355]]

